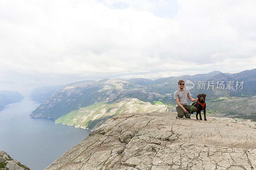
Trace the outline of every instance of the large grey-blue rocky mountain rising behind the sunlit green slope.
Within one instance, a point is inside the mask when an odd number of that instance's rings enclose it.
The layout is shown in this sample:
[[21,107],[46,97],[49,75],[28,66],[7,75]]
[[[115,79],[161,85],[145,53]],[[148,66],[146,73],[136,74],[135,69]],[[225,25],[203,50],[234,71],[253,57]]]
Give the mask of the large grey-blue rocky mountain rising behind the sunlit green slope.
[[56,120],[72,111],[100,102],[114,103],[124,98],[136,98],[153,103],[154,100],[161,98],[157,93],[146,91],[149,91],[148,87],[119,79],[78,82],[55,92],[36,108],[30,117],[46,117]]

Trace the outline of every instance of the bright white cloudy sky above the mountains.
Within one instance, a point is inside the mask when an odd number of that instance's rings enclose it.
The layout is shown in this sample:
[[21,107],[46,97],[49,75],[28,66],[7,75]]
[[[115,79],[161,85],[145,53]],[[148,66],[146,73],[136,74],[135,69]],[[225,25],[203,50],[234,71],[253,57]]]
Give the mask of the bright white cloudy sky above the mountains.
[[251,70],[255,9],[253,0],[0,0],[0,90]]

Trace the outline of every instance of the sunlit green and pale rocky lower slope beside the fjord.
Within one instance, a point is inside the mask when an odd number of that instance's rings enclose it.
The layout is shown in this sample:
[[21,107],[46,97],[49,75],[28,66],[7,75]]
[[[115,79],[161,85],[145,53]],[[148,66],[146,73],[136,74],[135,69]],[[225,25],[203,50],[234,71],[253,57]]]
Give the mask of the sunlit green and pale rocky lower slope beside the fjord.
[[128,98],[117,103],[96,103],[61,116],[55,122],[93,129],[100,126],[110,117],[119,113],[131,112],[165,112],[165,105],[151,105],[135,98]]

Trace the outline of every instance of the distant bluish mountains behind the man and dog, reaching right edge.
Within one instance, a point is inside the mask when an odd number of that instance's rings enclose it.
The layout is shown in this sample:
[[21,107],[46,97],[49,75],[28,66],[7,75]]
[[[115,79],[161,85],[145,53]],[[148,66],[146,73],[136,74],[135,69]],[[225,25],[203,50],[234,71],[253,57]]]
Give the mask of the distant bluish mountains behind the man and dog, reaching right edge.
[[[160,80],[160,81],[159,81]],[[148,92],[156,92],[160,95],[169,94],[173,96],[173,93],[178,89],[178,81],[179,80],[190,80],[195,86],[193,89],[190,89],[190,93],[192,96],[197,96],[197,94],[207,94],[207,97],[228,97],[228,96],[241,96],[241,95],[256,95],[256,69],[245,70],[239,73],[234,74],[226,74],[220,71],[212,71],[206,74],[196,74],[196,75],[183,75],[179,77],[170,77],[170,78],[161,78],[158,80],[154,80],[152,84],[146,84],[150,91]],[[205,88],[199,88],[200,81],[205,83]],[[208,82],[211,83],[213,81],[214,88],[211,86],[208,88]],[[225,88],[217,88],[217,82],[224,81]],[[227,88],[228,81],[233,81],[233,88]],[[243,88],[236,88],[236,81],[238,85],[241,85],[243,81]],[[156,83],[157,82],[157,83]],[[238,86],[237,86],[238,87]],[[185,87],[186,88],[186,87]],[[242,96],[241,96],[242,97]],[[174,100],[172,101],[174,102]]]

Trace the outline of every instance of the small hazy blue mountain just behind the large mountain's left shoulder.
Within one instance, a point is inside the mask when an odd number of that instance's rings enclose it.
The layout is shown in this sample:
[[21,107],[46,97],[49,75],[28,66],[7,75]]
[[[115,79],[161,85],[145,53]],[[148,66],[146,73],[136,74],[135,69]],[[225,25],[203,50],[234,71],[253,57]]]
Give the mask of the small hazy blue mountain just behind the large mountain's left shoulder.
[[52,94],[64,85],[47,85],[43,87],[37,87],[32,90],[30,97],[33,101],[43,103],[44,100],[52,96]]

